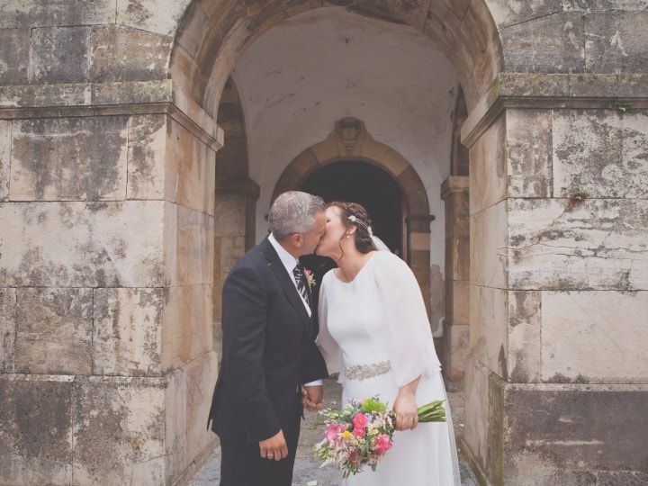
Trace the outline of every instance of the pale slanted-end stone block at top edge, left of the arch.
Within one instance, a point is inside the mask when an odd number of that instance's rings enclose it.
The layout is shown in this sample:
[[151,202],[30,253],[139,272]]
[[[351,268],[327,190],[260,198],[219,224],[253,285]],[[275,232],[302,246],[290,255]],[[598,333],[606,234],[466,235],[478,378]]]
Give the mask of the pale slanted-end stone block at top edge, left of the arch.
[[117,23],[174,37],[190,0],[117,0]]

